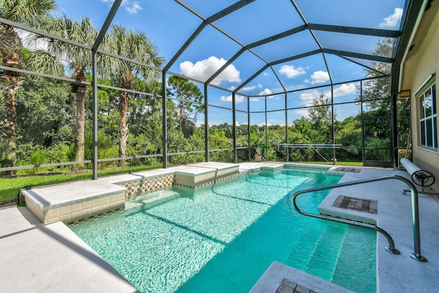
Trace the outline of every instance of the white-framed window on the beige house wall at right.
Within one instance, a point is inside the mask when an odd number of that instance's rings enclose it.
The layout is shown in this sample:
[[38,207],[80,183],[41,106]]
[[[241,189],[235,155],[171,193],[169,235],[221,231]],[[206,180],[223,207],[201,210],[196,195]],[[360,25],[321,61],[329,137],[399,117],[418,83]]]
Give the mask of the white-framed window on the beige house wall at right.
[[438,149],[438,121],[436,113],[436,84],[419,97],[420,145]]

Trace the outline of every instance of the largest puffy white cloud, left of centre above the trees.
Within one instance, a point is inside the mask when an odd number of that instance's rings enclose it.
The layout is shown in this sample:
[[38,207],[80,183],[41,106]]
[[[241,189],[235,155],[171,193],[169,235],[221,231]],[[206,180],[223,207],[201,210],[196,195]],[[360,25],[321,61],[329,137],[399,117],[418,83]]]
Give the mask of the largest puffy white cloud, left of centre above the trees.
[[[211,56],[207,59],[201,60],[193,64],[191,61],[180,63],[180,71],[183,75],[195,78],[198,80],[207,80],[213,73],[221,68],[227,60],[224,58],[217,58]],[[239,71],[233,65],[228,65],[221,74],[213,80],[212,84],[219,85],[222,82],[241,82],[239,78]]]

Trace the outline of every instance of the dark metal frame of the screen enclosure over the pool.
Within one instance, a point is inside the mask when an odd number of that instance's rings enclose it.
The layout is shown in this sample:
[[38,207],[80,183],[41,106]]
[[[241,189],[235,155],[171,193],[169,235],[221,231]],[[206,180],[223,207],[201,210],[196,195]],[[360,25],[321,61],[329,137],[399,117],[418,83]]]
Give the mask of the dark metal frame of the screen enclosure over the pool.
[[[306,56],[311,56],[314,54],[322,54],[322,57],[324,58],[324,62],[325,65],[327,67],[327,71],[329,73],[329,77],[330,77],[330,81],[331,84],[329,84],[329,86],[331,86],[331,99],[333,99],[333,86],[335,86],[337,83],[334,83],[332,78],[331,78],[331,71],[329,70],[329,67],[327,65],[326,62],[326,58],[325,58],[325,54],[333,54],[336,56],[340,56],[342,58],[345,58],[346,60],[349,60],[351,62],[355,62],[354,60],[352,60],[351,58],[360,58],[360,59],[366,59],[366,60],[372,60],[372,61],[377,61],[377,62],[388,62],[392,64],[392,73],[390,73],[390,78],[391,78],[391,89],[392,89],[392,154],[395,154],[396,150],[394,148],[394,141],[396,140],[397,137],[397,133],[396,133],[396,129],[394,128],[394,125],[396,125],[396,95],[399,93],[399,79],[400,79],[400,71],[401,71],[401,64],[403,62],[403,59],[405,58],[405,54],[407,54],[407,50],[410,47],[410,41],[412,39],[412,36],[414,34],[414,29],[416,27],[416,22],[418,20],[418,17],[420,17],[420,15],[423,12],[423,8],[425,8],[425,4],[427,1],[412,1],[412,0],[407,0],[406,1],[406,10],[405,10],[405,15],[403,15],[403,19],[401,20],[401,27],[403,27],[403,30],[401,31],[396,31],[396,30],[376,30],[376,29],[369,29],[369,28],[361,28],[361,27],[348,27],[348,26],[340,26],[340,25],[320,25],[320,24],[316,24],[316,23],[308,23],[306,21],[306,19],[303,17],[303,15],[301,14],[298,6],[296,5],[295,1],[292,0],[292,5],[294,5],[294,8],[297,10],[297,12],[300,14],[300,17],[302,18],[303,21],[303,25],[300,25],[299,27],[296,27],[292,30],[287,30],[286,32],[282,32],[281,34],[275,34],[273,36],[270,36],[268,38],[264,38],[263,40],[259,40],[257,42],[254,42],[252,44],[249,45],[243,45],[241,43],[239,43],[239,41],[235,40],[232,36],[228,35],[226,32],[223,32],[222,30],[220,30],[218,27],[215,26],[215,24],[213,24],[213,21],[216,21],[218,19],[221,19],[222,17],[236,11],[239,10],[240,8],[243,8],[244,6],[248,5],[249,3],[252,3],[255,0],[241,0],[241,1],[237,1],[235,4],[230,5],[228,8],[217,12],[215,14],[213,14],[212,16],[204,19],[202,16],[200,16],[199,14],[197,14],[197,12],[193,11],[191,8],[189,8],[189,6],[185,5],[185,3],[183,3],[182,1],[176,0],[177,3],[179,3],[180,5],[182,5],[183,7],[185,7],[187,10],[189,10],[190,12],[192,12],[193,14],[195,14],[196,16],[198,16],[200,19],[202,19],[202,23],[199,25],[199,27],[193,32],[193,34],[187,39],[187,41],[185,42],[184,45],[182,45],[182,47],[180,47],[180,49],[178,50],[177,54],[171,58],[171,60],[167,63],[167,65],[165,65],[165,67],[163,67],[163,69],[158,69],[156,67],[152,67],[150,65],[145,65],[145,64],[141,64],[145,67],[150,67],[154,70],[158,70],[161,71],[161,75],[162,75],[162,89],[163,89],[163,93],[162,93],[162,102],[163,102],[163,167],[167,168],[168,165],[168,152],[167,152],[167,107],[166,107],[166,103],[167,103],[167,99],[169,99],[167,97],[167,93],[166,93],[166,76],[167,74],[172,74],[172,75],[179,75],[178,73],[172,73],[171,71],[169,71],[170,67],[174,64],[174,62],[176,62],[176,60],[178,60],[178,57],[181,56],[181,54],[185,51],[185,49],[187,49],[187,47],[189,47],[189,45],[193,42],[193,40],[198,36],[198,34],[200,34],[200,32],[202,32],[202,30],[204,30],[205,27],[207,27],[208,25],[211,25],[213,27],[215,27],[215,29],[219,30],[220,32],[222,32],[222,34],[224,34],[225,36],[227,36],[228,38],[230,38],[231,40],[235,41],[236,43],[238,43],[239,45],[241,45],[241,49],[239,49],[239,51],[237,51],[237,53],[230,58],[226,64],[224,64],[218,71],[216,71],[211,78],[209,78],[208,80],[206,80],[205,82],[202,82],[200,80],[195,80],[193,78],[188,78],[187,76],[184,76],[184,78],[187,78],[189,80],[193,80],[195,82],[199,82],[201,84],[204,84],[204,104],[205,104],[205,115],[204,115],[204,132],[205,132],[205,160],[209,161],[209,124],[208,124],[208,119],[209,119],[209,113],[208,113],[208,106],[209,106],[209,95],[208,95],[208,89],[209,86],[213,86],[213,87],[217,87],[219,89],[222,89],[223,91],[228,91],[230,93],[232,93],[232,98],[233,98],[233,106],[232,106],[232,111],[233,111],[233,153],[234,153],[234,159],[233,161],[236,163],[237,161],[237,148],[236,148],[236,119],[235,119],[235,115],[236,115],[236,103],[235,103],[235,97],[237,94],[242,95],[244,97],[247,97],[247,99],[249,99],[251,96],[250,95],[245,95],[243,93],[239,93],[239,90],[242,89],[244,86],[246,86],[246,84],[248,84],[248,82],[250,82],[253,78],[255,78],[257,75],[259,75],[260,73],[262,73],[265,69],[271,68],[274,65],[278,65],[282,62],[287,62],[290,60],[296,60],[299,58],[304,58]],[[91,83],[88,82],[79,82],[80,84],[88,84],[88,85],[92,85],[93,86],[93,157],[91,159],[91,161],[83,161],[83,162],[70,162],[70,163],[59,163],[59,164],[46,164],[47,166],[49,165],[73,165],[73,164],[78,164],[78,163],[92,163],[93,165],[93,179],[97,179],[97,163],[99,163],[99,161],[103,161],[102,159],[99,160],[97,159],[97,75],[95,74],[97,72],[97,62],[96,62],[96,54],[100,53],[100,54],[107,54],[109,56],[115,57],[115,58],[120,58],[122,60],[126,60],[128,62],[134,62],[139,64],[139,62],[135,61],[135,60],[131,60],[129,58],[124,58],[123,56],[116,56],[114,54],[110,54],[108,52],[104,52],[102,50],[99,50],[99,45],[102,42],[102,38],[104,37],[104,35],[106,34],[108,28],[110,27],[110,24],[112,23],[112,19],[114,18],[117,10],[119,9],[120,5],[121,5],[122,0],[115,0],[114,3],[112,4],[112,8],[110,9],[110,12],[108,13],[108,16],[106,18],[106,21],[104,22],[104,25],[102,25],[102,29],[99,31],[99,35],[97,36],[97,39],[95,40],[95,43],[92,47],[88,46],[88,45],[83,45],[83,44],[78,44],[75,43],[71,40],[67,40],[67,39],[63,39],[63,38],[59,38],[58,36],[54,36],[51,34],[48,34],[46,32],[41,32],[38,30],[35,30],[32,27],[27,27],[25,25],[20,25],[19,23],[14,23],[11,21],[7,21],[5,19],[0,19],[1,23],[5,23],[7,25],[12,25],[14,27],[18,27],[21,28],[23,30],[27,30],[28,32],[33,32],[36,34],[41,34],[44,36],[49,36],[50,38],[55,38],[58,40],[63,40],[67,43],[71,43],[72,45],[78,45],[84,49],[90,49],[92,54],[93,54],[93,81]],[[269,43],[273,40],[276,40],[278,38],[283,38],[285,36],[288,36],[290,34],[295,34],[297,32],[301,32],[303,30],[308,30],[313,38],[316,40],[316,43],[318,44],[318,47],[320,49],[318,50],[314,50],[314,51],[309,51],[305,54],[299,54],[296,56],[291,56],[289,58],[284,58],[282,60],[276,60],[274,62],[267,62],[265,60],[263,60],[263,58],[261,58],[260,56],[257,56],[256,53],[254,53],[254,51],[252,51],[252,48],[254,47],[258,47],[259,45],[263,45],[264,43]],[[327,31],[327,32],[344,32],[347,34],[361,34],[361,35],[366,35],[366,36],[381,36],[381,37],[391,37],[391,38],[395,38],[396,39],[396,45],[394,46],[394,52],[393,52],[393,56],[392,58],[388,58],[388,57],[381,57],[381,56],[372,56],[372,55],[368,55],[368,54],[358,54],[355,52],[350,52],[350,51],[341,51],[341,50],[334,50],[334,49],[326,49],[324,47],[322,47],[322,45],[320,45],[318,39],[316,38],[315,34],[313,33],[314,30],[321,30],[321,31]],[[226,67],[228,67],[228,65],[230,65],[233,60],[235,60],[236,58],[238,58],[241,54],[244,53],[244,51],[250,51],[252,54],[254,54],[255,56],[257,56],[258,58],[261,58],[261,60],[263,60],[265,62],[265,65],[259,69],[259,71],[255,72],[254,75],[252,75],[250,78],[248,78],[248,80],[242,82],[236,89],[234,89],[233,91],[230,91],[228,89],[224,89],[220,86],[215,86],[213,84],[211,84],[211,82],[222,72],[224,71],[224,69],[226,69]],[[364,65],[362,65],[364,66]],[[71,80],[69,78],[60,78],[58,76],[52,76],[52,75],[45,75],[42,73],[36,73],[36,72],[31,72],[31,71],[25,71],[22,69],[12,69],[10,67],[3,67],[1,66],[0,69],[7,69],[9,71],[16,71],[19,73],[29,73],[29,74],[33,74],[33,75],[39,75],[39,76],[43,76],[43,77],[48,77],[48,78],[55,78],[58,80],[64,80],[64,81],[68,81],[68,82],[75,82],[78,83],[77,80]],[[274,71],[274,70],[273,70]],[[384,76],[388,76],[385,73],[382,73],[383,75],[381,75],[382,77]],[[276,75],[276,72],[274,71],[274,75]],[[180,75],[182,76],[182,75]],[[278,78],[278,76],[276,75],[276,78]],[[366,78],[367,79],[367,78]],[[364,80],[366,80],[364,79]],[[278,81],[280,82],[280,84],[282,84],[281,80],[278,78]],[[102,86],[102,85],[99,85]],[[328,86],[325,85],[325,86]],[[115,87],[112,86],[103,86],[103,87],[108,87],[111,89],[117,89]],[[281,93],[274,93],[273,95],[278,95],[278,94],[285,94],[285,97],[287,95],[287,93],[289,93],[289,91],[286,91],[285,86],[283,86],[284,91]],[[304,90],[304,89],[302,89]],[[123,91],[128,91],[128,92],[136,92],[136,91],[129,91],[126,89],[123,89]],[[148,93],[142,93],[143,95],[148,95]],[[260,97],[265,97],[266,96],[260,96]],[[331,103],[331,108],[332,108],[332,112],[333,112],[333,103]],[[248,115],[249,115],[249,121],[250,121],[250,106],[248,106]],[[287,104],[285,104],[285,125],[287,126]],[[249,128],[249,141],[248,141],[248,154],[249,154],[249,159],[250,159],[250,123],[248,124],[248,128]],[[286,140],[288,139],[287,137],[287,133],[286,135]],[[333,136],[334,139],[334,136]],[[333,141],[334,143],[334,141]],[[154,156],[158,156],[158,155],[154,155]],[[140,156],[137,156],[140,157]],[[113,159],[121,159],[121,158],[113,158]],[[130,159],[130,158],[127,158]],[[105,159],[106,161],[108,161],[108,159]],[[104,160],[104,161],[105,161]],[[30,166],[30,167],[34,167],[34,166]],[[45,165],[41,165],[41,167],[45,167]],[[11,169],[29,169],[29,166],[21,166],[21,167],[6,167],[6,168],[0,168],[0,171],[10,171]]]

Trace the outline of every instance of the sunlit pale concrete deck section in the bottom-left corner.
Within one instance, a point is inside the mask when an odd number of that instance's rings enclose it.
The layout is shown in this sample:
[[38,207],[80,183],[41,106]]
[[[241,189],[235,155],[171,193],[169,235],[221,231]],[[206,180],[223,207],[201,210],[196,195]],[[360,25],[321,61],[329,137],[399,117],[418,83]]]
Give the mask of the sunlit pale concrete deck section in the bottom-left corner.
[[0,210],[1,292],[138,292],[62,222]]

